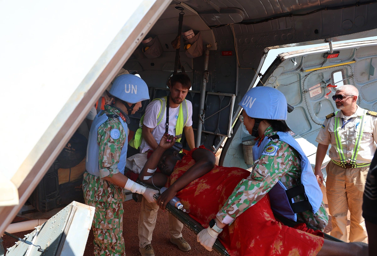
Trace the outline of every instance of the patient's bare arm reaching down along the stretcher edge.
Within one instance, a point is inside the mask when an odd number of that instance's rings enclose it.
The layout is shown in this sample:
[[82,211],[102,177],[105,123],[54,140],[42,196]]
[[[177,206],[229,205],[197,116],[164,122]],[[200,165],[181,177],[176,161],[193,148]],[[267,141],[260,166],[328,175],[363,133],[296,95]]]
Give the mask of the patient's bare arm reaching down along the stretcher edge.
[[[213,155],[213,153],[209,150],[196,149],[192,153],[192,158],[196,163],[159,196],[157,204],[162,208],[162,210],[165,210],[167,203],[177,194],[179,190],[183,189],[195,179],[210,172],[213,166],[215,166],[215,155]],[[153,182],[155,182],[154,178]]]

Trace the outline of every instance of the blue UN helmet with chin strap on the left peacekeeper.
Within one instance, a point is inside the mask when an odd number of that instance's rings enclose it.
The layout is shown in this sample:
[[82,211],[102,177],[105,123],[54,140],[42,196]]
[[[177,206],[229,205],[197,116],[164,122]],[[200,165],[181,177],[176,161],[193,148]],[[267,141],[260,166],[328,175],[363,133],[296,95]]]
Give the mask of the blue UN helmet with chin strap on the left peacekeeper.
[[[109,94],[123,101],[130,115],[136,103],[149,100],[148,86],[136,75],[124,74],[113,80]],[[129,106],[127,103],[131,103]]]

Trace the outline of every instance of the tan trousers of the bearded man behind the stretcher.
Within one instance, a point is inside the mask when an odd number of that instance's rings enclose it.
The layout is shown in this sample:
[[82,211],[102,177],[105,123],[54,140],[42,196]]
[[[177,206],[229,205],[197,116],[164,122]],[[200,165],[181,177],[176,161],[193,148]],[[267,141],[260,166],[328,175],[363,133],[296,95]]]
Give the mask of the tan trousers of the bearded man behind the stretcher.
[[[139,247],[145,247],[152,242],[152,233],[156,226],[157,212],[159,206],[156,203],[149,203],[144,197],[141,201],[139,216]],[[169,213],[169,232],[172,238],[182,236],[183,224]]]

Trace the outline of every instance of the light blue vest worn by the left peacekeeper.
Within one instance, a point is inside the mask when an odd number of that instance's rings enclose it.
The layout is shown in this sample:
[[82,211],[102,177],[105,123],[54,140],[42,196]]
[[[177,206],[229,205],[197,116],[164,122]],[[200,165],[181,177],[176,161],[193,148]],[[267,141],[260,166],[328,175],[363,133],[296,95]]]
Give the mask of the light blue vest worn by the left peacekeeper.
[[[98,160],[98,155],[100,153],[100,146],[98,145],[98,127],[101,124],[105,123],[109,117],[106,114],[102,114],[103,111],[97,114],[97,116],[93,120],[93,124],[90,127],[89,138],[88,138],[88,147],[86,150],[86,170],[91,175],[100,176],[100,162]],[[127,141],[127,123],[122,120],[122,118],[118,118],[120,123],[123,126],[124,132],[126,133],[126,141]],[[121,153],[120,153],[120,161],[118,162],[118,170],[120,173],[124,174],[124,167],[126,167],[126,158],[127,158],[127,143],[124,143]]]

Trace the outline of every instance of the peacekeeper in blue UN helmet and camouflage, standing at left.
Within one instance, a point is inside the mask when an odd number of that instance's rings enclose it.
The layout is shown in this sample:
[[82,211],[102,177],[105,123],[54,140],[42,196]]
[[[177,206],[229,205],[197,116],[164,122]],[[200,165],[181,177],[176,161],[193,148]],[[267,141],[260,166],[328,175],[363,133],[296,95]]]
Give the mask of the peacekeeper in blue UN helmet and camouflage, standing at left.
[[135,75],[120,75],[113,81],[110,105],[95,117],[89,133],[86,172],[83,179],[85,203],[95,207],[92,229],[94,254],[126,255],[123,239],[123,189],[156,202],[157,190],[143,187],[124,176],[127,155],[128,115],[149,99],[147,84]]

